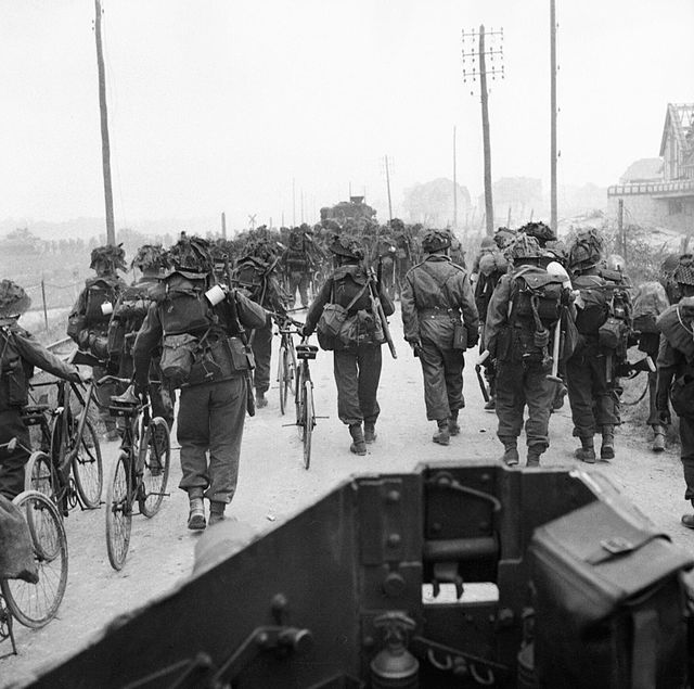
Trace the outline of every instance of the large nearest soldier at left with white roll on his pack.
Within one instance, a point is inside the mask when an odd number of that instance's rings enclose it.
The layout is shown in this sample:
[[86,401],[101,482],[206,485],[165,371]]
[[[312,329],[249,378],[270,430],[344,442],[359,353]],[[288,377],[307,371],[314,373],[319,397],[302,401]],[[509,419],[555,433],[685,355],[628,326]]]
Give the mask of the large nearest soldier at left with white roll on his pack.
[[[223,519],[236,489],[241,439],[246,416],[252,357],[244,347],[244,328],[265,326],[266,311],[235,290],[226,294],[214,283],[208,244],[183,238],[171,250],[174,271],[166,278],[166,295],[150,305],[134,343],[134,377],[146,390],[152,356],[160,346],[162,370],[178,371],[181,387],[178,442],[182,477],[188,492],[188,527],[206,526],[203,496],[210,501],[209,523]],[[211,295],[210,295],[211,298]],[[179,357],[179,358],[177,358]],[[207,459],[209,452],[209,460]]]

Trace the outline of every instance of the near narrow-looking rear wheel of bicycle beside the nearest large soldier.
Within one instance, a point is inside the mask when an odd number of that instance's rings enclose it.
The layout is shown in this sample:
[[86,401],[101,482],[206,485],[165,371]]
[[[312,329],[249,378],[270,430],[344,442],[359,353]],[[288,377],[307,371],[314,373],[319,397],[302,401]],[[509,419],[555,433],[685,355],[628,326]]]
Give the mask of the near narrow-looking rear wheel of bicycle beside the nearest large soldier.
[[106,489],[106,549],[114,570],[121,570],[128,556],[132,525],[132,475],[130,457],[120,452]]

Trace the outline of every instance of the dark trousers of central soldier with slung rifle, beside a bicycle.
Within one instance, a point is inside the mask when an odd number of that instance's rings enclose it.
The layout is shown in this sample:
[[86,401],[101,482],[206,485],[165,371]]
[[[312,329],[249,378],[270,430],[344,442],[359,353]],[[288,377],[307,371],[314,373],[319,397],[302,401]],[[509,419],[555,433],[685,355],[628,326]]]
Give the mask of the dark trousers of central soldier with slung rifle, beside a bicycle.
[[375,423],[381,412],[376,393],[381,380],[381,345],[365,344],[333,353],[337,416],[343,423]]

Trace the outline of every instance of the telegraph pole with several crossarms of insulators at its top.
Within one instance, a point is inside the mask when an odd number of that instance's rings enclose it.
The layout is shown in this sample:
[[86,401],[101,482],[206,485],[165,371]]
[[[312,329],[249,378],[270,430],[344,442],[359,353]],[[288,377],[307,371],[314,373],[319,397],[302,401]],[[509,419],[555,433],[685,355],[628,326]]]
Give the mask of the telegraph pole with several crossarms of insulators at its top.
[[[491,48],[487,49],[485,37],[491,37],[492,40],[496,37],[501,37],[503,40],[503,29],[499,31],[488,31],[485,34],[484,24],[480,25],[479,30],[472,30],[470,33],[463,31],[463,44],[465,43],[465,39],[478,39],[479,44],[477,51],[473,49],[465,51],[463,48],[463,81],[467,81],[468,78],[472,78],[473,81],[479,77],[479,97],[481,101],[481,135],[483,135],[483,146],[484,146],[484,156],[485,156],[485,221],[487,226],[487,234],[494,233],[494,204],[491,195],[491,143],[489,137],[489,107],[488,107],[488,99],[489,92],[487,90],[487,76],[490,76],[492,79],[499,74],[503,79],[503,64],[499,67],[491,66],[487,67],[487,56],[490,58],[491,62],[493,62],[494,58],[501,59],[503,56],[503,51],[501,48]],[[466,60],[472,60],[472,66],[467,67],[465,65]],[[477,62],[479,61],[479,62]]]

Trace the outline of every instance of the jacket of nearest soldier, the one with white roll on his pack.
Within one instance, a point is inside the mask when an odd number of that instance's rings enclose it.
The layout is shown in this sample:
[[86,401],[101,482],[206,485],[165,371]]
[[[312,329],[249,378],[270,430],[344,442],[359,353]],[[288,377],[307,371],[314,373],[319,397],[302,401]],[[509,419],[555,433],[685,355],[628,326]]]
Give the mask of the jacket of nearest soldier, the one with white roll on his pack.
[[[254,328],[262,328],[267,322],[267,311],[241,292],[236,291],[235,295],[236,311],[241,324],[247,331]],[[210,309],[217,321],[209,328],[209,333],[207,333],[205,337],[205,348],[208,350],[210,360],[208,360],[205,367],[198,363],[193,365],[189,385],[218,383],[243,375],[247,370],[247,366],[242,363],[245,361],[245,354],[236,336],[239,333],[233,326],[233,318],[229,306],[230,298],[233,298],[232,295],[229,295],[224,301]],[[142,328],[134,341],[132,352],[134,378],[138,385],[143,388],[147,385],[150,361],[157,353],[164,336],[160,317],[162,308],[162,302],[153,302],[150,305]],[[191,332],[190,334],[203,337],[205,331]],[[207,375],[207,373],[210,375]]]

